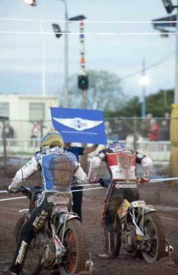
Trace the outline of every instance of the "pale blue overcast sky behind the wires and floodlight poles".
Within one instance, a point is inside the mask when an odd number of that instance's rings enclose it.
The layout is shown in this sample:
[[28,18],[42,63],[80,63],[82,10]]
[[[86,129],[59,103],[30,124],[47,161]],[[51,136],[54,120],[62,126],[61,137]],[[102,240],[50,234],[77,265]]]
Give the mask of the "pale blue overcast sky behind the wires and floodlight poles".
[[[173,3],[175,1],[173,0]],[[175,86],[175,35],[162,38],[151,23],[87,23],[87,21],[151,21],[167,16],[162,0],[66,0],[68,17],[84,14],[86,69],[106,69],[123,78],[146,66],[162,61],[149,69],[147,94]],[[36,7],[23,0],[1,0],[0,10],[0,93],[42,94],[42,45],[44,46],[46,93],[62,93],[64,85],[64,36],[54,34],[14,34],[38,32],[39,22],[8,19],[36,19],[42,21],[45,32],[52,32],[51,23],[64,20],[64,3],[60,0],[38,0]],[[51,20],[44,22],[43,20]],[[64,23],[60,23],[64,30]],[[79,23],[69,23],[69,76],[79,73]],[[9,31],[12,33],[5,33]],[[142,32],[141,35],[99,35],[106,33]],[[125,78],[123,91],[128,96],[142,95],[140,74]]]

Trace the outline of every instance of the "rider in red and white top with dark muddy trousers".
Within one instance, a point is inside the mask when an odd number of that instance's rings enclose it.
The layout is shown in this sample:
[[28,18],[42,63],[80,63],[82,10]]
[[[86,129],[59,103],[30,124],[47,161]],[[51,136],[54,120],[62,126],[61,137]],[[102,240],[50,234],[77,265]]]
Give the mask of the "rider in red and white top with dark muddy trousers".
[[149,181],[153,164],[146,155],[134,153],[124,144],[114,142],[110,144],[109,148],[99,151],[98,155],[92,157],[88,173],[90,183],[96,182],[97,171],[102,162],[107,164],[111,181],[105,195],[102,213],[105,252],[99,256],[113,259],[116,256],[114,254],[114,217],[116,217],[116,212],[124,199],[131,202],[139,198],[136,184],[136,164],[141,164],[144,168],[142,183]]

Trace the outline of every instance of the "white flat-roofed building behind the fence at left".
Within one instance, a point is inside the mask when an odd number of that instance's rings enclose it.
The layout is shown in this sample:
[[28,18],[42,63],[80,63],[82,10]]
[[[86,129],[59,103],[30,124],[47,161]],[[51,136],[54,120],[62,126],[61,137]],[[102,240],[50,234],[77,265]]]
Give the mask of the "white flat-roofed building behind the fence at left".
[[40,137],[35,121],[46,121],[42,130],[49,131],[50,107],[58,106],[59,96],[0,94],[0,117],[9,118],[10,126],[14,129],[14,138],[22,140],[29,139],[33,134]]

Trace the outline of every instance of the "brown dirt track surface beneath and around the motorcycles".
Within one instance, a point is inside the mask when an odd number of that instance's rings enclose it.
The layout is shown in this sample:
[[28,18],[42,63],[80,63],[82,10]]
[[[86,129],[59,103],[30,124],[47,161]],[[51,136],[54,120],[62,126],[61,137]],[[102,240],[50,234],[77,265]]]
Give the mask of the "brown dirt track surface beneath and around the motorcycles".
[[[36,181],[34,181],[36,183]],[[33,181],[28,181],[33,184]],[[34,183],[34,184],[35,184]],[[10,184],[10,179],[0,179],[1,190]],[[99,259],[98,254],[103,252],[101,234],[101,210],[105,190],[85,191],[83,199],[83,225],[86,229],[88,252],[92,254],[94,262],[93,275],[167,275],[178,274],[178,209],[157,206],[158,214],[164,225],[166,239],[173,245],[175,251],[171,259],[165,257],[153,265],[145,263],[140,258],[133,258],[121,248],[120,256],[114,260]],[[0,199],[15,197],[9,194],[0,194]],[[28,207],[28,199],[0,201],[0,275],[10,265],[12,259],[12,232],[20,217],[18,210]],[[49,272],[42,272],[42,275]]]

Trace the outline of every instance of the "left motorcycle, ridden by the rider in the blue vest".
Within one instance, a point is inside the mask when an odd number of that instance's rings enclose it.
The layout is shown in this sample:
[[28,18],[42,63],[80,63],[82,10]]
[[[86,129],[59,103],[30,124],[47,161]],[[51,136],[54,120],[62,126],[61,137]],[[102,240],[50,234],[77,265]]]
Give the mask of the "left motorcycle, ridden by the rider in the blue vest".
[[[14,228],[14,248],[24,223],[31,216],[42,188],[22,186],[20,191],[29,199],[29,209],[20,210],[23,216]],[[21,274],[37,275],[42,268],[55,269],[55,274],[69,275],[86,270],[86,236],[77,214],[68,212],[67,206],[53,207],[51,218],[29,244]]]

